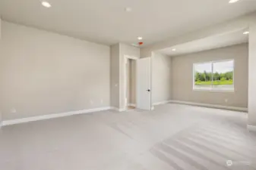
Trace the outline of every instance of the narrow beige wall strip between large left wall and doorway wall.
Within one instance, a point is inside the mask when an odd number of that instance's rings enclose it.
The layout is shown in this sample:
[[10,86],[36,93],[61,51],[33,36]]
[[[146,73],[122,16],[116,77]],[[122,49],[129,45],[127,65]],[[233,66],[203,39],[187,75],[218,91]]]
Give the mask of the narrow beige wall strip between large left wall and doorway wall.
[[119,108],[119,44],[110,47],[111,106]]

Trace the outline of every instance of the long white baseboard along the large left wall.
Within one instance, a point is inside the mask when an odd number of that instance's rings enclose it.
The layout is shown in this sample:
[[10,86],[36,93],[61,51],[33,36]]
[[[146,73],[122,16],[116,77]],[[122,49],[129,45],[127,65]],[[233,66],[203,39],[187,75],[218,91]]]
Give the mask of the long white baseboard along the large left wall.
[[111,108],[112,107],[100,107],[100,108],[89,109],[89,110],[77,110],[77,111],[71,111],[66,113],[55,113],[55,114],[49,114],[49,115],[43,115],[43,116],[33,116],[33,117],[27,117],[27,118],[21,118],[21,119],[5,120],[2,122],[2,126],[15,125],[15,124],[25,123],[25,122],[34,122],[34,121],[45,120],[45,119],[54,119],[54,118],[72,116],[72,115],[78,115],[78,114],[84,114],[84,113],[93,113],[93,112],[99,112],[103,110],[110,110]]

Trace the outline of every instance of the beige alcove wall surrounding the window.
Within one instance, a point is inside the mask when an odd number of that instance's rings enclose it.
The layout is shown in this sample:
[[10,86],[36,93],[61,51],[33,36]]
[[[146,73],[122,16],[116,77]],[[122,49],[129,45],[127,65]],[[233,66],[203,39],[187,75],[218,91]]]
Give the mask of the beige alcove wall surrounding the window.
[[[193,91],[193,63],[227,59],[235,60],[235,92]],[[248,44],[172,57],[172,100],[248,107]]]

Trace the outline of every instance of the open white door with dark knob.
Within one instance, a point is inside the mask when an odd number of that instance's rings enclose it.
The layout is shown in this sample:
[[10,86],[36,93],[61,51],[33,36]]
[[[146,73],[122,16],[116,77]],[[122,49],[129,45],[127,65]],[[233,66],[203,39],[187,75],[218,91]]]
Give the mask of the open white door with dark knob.
[[151,110],[150,57],[137,60],[137,108]]

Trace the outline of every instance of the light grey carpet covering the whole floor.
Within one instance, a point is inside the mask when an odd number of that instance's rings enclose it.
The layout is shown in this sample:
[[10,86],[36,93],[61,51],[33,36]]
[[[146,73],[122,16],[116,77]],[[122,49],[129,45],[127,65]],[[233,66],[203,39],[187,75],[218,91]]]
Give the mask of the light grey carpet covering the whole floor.
[[256,169],[246,122],[246,113],[166,104],[6,126],[0,169]]

